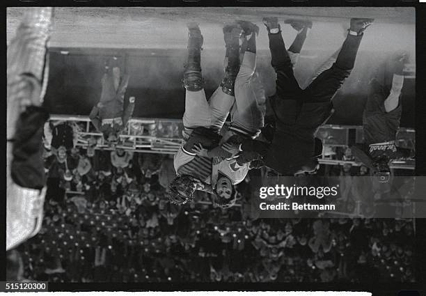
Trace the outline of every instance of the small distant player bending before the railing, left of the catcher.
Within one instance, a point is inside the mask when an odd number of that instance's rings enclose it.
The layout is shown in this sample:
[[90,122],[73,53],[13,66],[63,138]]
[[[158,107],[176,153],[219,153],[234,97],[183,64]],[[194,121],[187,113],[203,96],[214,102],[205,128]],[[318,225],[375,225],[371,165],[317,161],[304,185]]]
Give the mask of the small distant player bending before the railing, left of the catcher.
[[125,129],[134,111],[134,97],[129,98],[129,104],[123,110],[128,84],[129,75],[121,75],[118,66],[111,68],[106,65],[100,102],[90,111],[89,118],[109,143],[118,142],[120,132]]

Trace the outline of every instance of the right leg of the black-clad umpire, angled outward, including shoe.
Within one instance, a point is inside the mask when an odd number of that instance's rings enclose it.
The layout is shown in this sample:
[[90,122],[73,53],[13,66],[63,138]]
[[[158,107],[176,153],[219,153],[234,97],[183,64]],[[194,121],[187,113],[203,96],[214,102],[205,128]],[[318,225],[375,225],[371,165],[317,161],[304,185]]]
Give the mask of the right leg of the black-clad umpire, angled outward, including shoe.
[[336,63],[322,72],[305,90],[306,102],[327,102],[349,77],[363,38],[363,31],[372,24],[371,19],[352,19],[349,33],[337,56]]

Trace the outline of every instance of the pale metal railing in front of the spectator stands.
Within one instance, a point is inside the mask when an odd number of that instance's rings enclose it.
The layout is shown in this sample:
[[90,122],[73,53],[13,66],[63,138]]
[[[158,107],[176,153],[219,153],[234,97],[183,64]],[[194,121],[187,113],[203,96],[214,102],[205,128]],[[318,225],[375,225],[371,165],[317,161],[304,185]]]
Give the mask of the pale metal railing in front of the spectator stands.
[[[75,127],[77,141],[75,146],[86,148],[90,138],[95,138],[95,149],[114,150],[104,141],[102,133],[97,132],[90,123],[88,116],[79,115],[59,115],[50,116],[49,120],[67,121]],[[136,153],[158,153],[175,154],[182,144],[182,120],[167,118],[132,118],[127,123],[125,130],[120,134],[120,144],[116,148]],[[350,134],[355,137],[356,143],[363,141],[363,128],[358,125],[322,125],[319,127],[316,136],[322,139],[324,146],[347,147]],[[414,143],[416,132],[409,128],[400,128],[397,132],[397,141],[411,141]],[[325,151],[325,150],[324,150]],[[331,159],[323,153],[319,159],[319,164],[361,166],[355,161]],[[415,168],[412,159],[395,160],[390,165],[391,169]]]

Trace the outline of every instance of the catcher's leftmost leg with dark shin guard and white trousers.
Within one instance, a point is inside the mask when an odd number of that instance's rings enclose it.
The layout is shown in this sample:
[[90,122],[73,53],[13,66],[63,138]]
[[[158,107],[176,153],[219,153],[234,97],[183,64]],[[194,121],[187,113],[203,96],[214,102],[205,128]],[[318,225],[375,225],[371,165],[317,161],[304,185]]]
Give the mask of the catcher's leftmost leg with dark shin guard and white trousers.
[[188,54],[185,63],[183,84],[185,91],[185,128],[210,127],[212,116],[205,98],[203,76],[201,75],[201,47],[203,35],[198,24],[188,24]]

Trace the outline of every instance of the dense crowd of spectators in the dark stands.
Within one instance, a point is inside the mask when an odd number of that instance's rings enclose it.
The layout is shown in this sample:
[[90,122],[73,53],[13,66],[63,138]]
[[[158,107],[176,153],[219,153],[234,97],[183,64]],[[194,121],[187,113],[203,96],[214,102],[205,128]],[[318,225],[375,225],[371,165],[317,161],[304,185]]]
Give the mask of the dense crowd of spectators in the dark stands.
[[[411,219],[253,219],[248,180],[258,171],[239,185],[232,208],[212,204],[204,192],[175,205],[166,192],[171,155],[95,150],[91,140],[77,148],[68,123],[47,129],[42,230],[16,250],[24,279],[415,281]],[[339,176],[349,174],[341,169]]]

